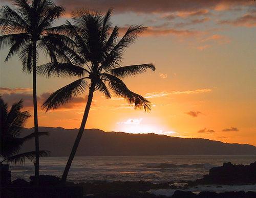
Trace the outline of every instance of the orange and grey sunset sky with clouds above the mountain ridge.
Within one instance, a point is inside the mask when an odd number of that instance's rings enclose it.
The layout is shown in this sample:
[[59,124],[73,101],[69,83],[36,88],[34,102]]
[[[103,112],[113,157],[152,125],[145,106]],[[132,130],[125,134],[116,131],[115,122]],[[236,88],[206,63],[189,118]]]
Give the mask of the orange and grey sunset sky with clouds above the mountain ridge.
[[[114,9],[113,24],[124,31],[131,24],[148,29],[125,53],[122,65],[153,63],[155,71],[124,82],[152,102],[146,113],[122,98],[94,95],[87,129],[157,133],[256,145],[256,2],[244,1],[93,1],[58,0],[70,11]],[[2,1],[2,5],[9,2]],[[1,51],[0,91],[12,104],[24,99],[33,113],[32,75]],[[40,55],[39,63],[49,62]],[[45,113],[40,105],[49,94],[74,79],[38,77],[39,126],[79,128],[87,94]],[[33,118],[26,127],[33,127]]]

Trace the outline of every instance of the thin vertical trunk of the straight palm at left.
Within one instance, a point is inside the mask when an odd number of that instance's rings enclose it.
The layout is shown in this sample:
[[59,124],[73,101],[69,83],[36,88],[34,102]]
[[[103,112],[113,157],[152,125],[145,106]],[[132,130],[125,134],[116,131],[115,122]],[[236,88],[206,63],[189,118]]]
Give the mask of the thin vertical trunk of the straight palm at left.
[[34,104],[34,131],[35,131],[35,179],[38,185],[39,179],[39,140],[37,119],[37,96],[36,96],[36,42],[33,42],[33,104]]

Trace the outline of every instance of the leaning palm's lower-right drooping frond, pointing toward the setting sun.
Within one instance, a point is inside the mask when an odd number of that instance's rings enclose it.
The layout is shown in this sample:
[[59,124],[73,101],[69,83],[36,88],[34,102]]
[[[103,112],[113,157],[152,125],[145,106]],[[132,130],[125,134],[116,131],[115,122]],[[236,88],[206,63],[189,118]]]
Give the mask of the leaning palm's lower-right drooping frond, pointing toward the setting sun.
[[118,97],[123,97],[129,102],[129,104],[134,105],[135,109],[144,109],[145,111],[151,110],[151,102],[146,100],[143,96],[130,91],[122,80],[110,75],[109,73],[102,73],[101,79],[103,81],[109,82],[109,87]]

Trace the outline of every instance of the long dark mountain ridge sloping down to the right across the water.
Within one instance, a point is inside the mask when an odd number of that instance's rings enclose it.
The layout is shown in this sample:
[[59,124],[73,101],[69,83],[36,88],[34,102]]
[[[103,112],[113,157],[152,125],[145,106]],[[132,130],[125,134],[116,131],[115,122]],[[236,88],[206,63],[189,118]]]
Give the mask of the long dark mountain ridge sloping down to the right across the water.
[[[50,136],[40,137],[40,150],[51,151],[51,156],[69,156],[78,129],[40,127]],[[24,129],[24,135],[33,128]],[[24,144],[24,150],[34,148],[34,141]],[[249,144],[223,143],[198,138],[178,138],[166,135],[129,134],[85,130],[76,156],[127,156],[127,155],[254,155],[256,147]]]

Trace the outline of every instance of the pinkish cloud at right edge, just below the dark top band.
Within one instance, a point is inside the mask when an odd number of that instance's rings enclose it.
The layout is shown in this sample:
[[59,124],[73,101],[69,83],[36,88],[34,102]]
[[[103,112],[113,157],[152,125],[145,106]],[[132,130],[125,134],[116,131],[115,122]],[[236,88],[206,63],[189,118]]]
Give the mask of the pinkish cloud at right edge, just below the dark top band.
[[230,24],[232,26],[243,26],[247,28],[256,27],[256,14],[245,14],[235,20],[221,20],[219,24]]

